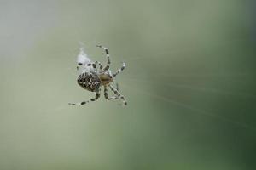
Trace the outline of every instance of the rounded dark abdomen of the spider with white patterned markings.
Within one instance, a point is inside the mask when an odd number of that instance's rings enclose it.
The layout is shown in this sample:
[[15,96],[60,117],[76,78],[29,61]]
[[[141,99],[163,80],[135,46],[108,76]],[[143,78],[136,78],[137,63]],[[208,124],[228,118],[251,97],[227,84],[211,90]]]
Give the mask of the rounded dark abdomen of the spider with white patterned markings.
[[82,88],[91,92],[96,92],[96,90],[100,88],[102,82],[101,79],[97,76],[96,72],[89,71],[79,75],[78,83]]

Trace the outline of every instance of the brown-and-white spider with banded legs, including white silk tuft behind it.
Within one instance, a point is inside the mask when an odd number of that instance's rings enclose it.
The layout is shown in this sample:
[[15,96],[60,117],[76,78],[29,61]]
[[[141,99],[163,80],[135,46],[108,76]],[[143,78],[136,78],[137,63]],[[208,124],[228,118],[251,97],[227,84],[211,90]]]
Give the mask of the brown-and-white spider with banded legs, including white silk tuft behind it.
[[[125,63],[123,63],[118,71],[112,74],[109,70],[111,62],[108,48],[105,48],[102,45],[96,45],[96,47],[104,49],[108,60],[106,66],[103,67],[103,65],[98,61],[92,62],[87,55],[84,54],[84,48],[80,49],[80,54],[78,55],[77,60],[77,70],[79,71],[77,82],[79,83],[79,86],[90,92],[96,92],[96,96],[90,100],[82,101],[80,103],[68,103],[68,105],[84,105],[90,101],[96,101],[101,96],[102,86],[104,87],[104,96],[106,99],[121,99],[123,101],[123,105],[127,105],[125,97],[119,93],[118,84],[116,84],[116,88],[112,85],[114,77],[116,77],[121,71],[124,71]],[[97,68],[97,65],[99,65],[99,68]],[[115,94],[113,97],[108,97],[108,88],[110,88],[113,94]]]

